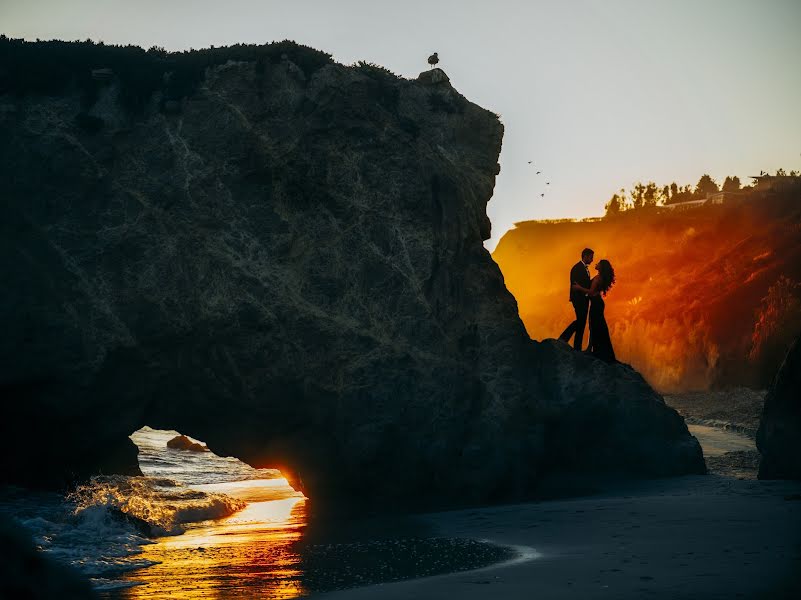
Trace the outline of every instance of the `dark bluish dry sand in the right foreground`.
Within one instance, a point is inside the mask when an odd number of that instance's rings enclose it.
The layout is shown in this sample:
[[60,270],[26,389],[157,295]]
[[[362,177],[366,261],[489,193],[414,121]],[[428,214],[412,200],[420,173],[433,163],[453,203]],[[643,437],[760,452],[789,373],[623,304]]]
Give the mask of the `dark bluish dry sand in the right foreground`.
[[801,597],[801,482],[688,476],[425,519],[529,558],[315,598]]

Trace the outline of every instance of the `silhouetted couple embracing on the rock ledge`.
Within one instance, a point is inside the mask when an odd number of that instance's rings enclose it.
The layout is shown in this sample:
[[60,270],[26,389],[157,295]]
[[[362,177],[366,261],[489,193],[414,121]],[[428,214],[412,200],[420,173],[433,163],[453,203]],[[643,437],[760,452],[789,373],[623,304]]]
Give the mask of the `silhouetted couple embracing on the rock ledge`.
[[591,278],[590,265],[594,256],[591,249],[584,248],[581,251],[581,260],[570,269],[570,303],[576,312],[576,320],[567,326],[559,339],[570,342],[570,337],[574,336],[573,348],[580,351],[589,312],[590,342],[586,352],[605,361],[616,362],[609,327],[604,317],[603,299],[615,283],[615,270],[608,260],[600,260],[595,267],[598,274]]

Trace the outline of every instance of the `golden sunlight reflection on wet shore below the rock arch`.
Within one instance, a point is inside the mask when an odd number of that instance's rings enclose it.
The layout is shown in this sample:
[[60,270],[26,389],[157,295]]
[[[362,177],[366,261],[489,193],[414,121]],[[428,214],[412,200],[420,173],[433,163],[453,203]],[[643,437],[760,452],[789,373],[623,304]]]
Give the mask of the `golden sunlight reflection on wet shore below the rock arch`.
[[284,479],[195,486],[246,500],[240,512],[158,538],[140,558],[159,564],[134,571],[123,598],[296,598],[301,584],[294,551],[306,526],[306,498]]

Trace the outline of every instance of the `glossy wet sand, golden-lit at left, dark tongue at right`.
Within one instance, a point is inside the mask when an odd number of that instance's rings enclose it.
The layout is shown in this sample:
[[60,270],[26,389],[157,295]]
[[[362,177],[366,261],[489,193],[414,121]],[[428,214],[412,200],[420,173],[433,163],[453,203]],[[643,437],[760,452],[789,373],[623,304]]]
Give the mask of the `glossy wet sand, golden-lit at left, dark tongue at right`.
[[285,479],[196,485],[246,501],[232,516],[156,538],[106,598],[305,597],[318,591],[465,571],[515,558],[506,547],[432,535],[417,516],[311,519]]

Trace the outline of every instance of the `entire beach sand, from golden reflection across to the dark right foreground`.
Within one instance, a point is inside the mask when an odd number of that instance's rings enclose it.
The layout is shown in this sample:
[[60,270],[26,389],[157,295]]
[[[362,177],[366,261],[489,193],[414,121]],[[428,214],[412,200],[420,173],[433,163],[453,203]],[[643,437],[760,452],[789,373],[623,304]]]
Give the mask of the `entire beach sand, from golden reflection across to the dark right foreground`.
[[801,482],[730,468],[757,455],[745,428],[691,430],[713,474],[587,478],[580,498],[320,526],[270,482],[199,486],[250,504],[146,547],[149,585],[113,597],[801,597]]

